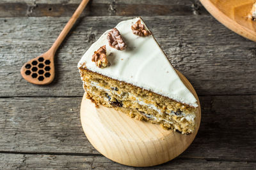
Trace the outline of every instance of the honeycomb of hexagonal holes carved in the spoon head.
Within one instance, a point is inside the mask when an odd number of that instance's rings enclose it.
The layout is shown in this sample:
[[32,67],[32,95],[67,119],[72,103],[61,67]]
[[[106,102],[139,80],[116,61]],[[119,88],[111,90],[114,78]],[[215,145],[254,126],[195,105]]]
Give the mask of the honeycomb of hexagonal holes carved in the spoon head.
[[45,60],[44,57],[39,57],[31,62],[31,64],[26,64],[25,74],[31,76],[32,78],[37,78],[39,81],[43,81],[45,78],[49,78],[51,73],[50,67],[51,60]]

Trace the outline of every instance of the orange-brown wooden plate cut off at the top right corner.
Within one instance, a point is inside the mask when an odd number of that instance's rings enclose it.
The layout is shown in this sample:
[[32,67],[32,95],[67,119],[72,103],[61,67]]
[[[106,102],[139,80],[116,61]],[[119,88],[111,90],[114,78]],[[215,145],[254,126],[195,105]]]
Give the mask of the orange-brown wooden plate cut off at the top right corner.
[[255,0],[200,0],[221,24],[244,38],[256,41],[256,21],[248,18]]

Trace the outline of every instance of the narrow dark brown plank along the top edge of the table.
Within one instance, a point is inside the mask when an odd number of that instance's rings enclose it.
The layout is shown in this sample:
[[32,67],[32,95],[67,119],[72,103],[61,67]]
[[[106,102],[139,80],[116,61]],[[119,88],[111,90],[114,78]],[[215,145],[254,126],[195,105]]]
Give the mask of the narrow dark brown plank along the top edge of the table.
[[[0,17],[68,17],[80,1],[1,1]],[[91,1],[82,16],[208,14],[197,0]]]

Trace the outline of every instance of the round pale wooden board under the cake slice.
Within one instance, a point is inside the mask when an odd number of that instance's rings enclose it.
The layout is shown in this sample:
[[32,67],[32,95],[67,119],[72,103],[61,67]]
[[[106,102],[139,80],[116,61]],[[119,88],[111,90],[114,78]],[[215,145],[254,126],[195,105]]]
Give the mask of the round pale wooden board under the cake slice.
[[184,152],[198,132],[201,109],[195,89],[179,71],[177,73],[198,100],[195,132],[184,135],[172,130],[166,131],[159,125],[130,118],[113,108],[95,108],[84,94],[81,123],[94,148],[108,159],[136,167],[163,164]]

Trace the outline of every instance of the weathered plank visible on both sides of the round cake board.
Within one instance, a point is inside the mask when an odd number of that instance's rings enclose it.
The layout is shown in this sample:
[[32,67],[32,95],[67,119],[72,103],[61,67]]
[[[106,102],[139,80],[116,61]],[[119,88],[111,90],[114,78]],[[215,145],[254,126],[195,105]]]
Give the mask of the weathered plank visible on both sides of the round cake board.
[[[256,96],[200,101],[198,135],[180,157],[255,162]],[[98,153],[84,136],[80,102],[81,97],[0,98],[0,152]]]

